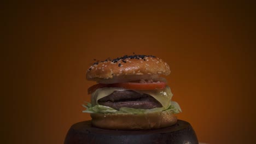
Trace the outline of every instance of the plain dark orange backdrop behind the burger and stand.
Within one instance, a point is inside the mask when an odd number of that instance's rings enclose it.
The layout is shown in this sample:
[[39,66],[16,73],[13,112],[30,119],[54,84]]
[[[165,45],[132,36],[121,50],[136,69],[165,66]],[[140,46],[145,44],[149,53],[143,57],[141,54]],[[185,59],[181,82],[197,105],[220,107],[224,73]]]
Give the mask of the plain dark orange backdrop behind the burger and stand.
[[3,4],[3,141],[63,143],[90,119],[93,59],[154,55],[201,142],[253,143],[255,16],[250,3]]

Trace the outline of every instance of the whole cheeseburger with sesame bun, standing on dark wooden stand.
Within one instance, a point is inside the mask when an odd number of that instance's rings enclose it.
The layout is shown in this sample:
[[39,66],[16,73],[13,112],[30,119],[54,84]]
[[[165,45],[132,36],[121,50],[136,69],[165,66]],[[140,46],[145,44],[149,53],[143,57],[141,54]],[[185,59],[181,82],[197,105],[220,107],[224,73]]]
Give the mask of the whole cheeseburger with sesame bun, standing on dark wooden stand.
[[83,105],[91,123],[104,129],[157,129],[177,122],[181,112],[164,77],[168,64],[155,56],[132,55],[95,62],[86,79],[91,102]]

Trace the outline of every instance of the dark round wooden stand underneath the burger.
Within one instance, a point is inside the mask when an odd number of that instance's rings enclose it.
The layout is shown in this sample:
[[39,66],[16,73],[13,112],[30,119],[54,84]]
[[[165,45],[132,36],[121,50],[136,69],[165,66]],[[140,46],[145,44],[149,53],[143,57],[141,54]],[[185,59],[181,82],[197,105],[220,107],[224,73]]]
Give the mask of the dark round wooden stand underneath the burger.
[[154,130],[109,130],[92,127],[91,121],[75,123],[65,144],[80,143],[173,143],[197,144],[195,131],[188,122],[178,120],[171,127]]

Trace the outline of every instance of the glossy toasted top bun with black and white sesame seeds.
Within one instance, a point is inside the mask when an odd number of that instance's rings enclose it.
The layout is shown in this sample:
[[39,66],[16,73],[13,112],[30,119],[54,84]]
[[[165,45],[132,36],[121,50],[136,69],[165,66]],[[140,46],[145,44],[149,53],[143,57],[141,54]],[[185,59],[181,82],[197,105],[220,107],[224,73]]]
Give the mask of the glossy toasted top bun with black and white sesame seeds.
[[99,79],[112,79],[124,75],[170,74],[169,65],[162,59],[153,56],[135,56],[94,63],[87,70],[86,79],[98,81]]

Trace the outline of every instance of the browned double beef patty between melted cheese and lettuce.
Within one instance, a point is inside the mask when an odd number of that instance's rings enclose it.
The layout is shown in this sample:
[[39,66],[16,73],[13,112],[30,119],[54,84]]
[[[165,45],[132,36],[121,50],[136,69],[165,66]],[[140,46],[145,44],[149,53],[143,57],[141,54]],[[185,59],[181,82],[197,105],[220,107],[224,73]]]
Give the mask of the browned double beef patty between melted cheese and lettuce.
[[98,100],[98,104],[112,107],[119,110],[121,107],[134,109],[154,109],[162,107],[158,100],[148,94],[141,94],[135,91],[114,91],[107,97]]

